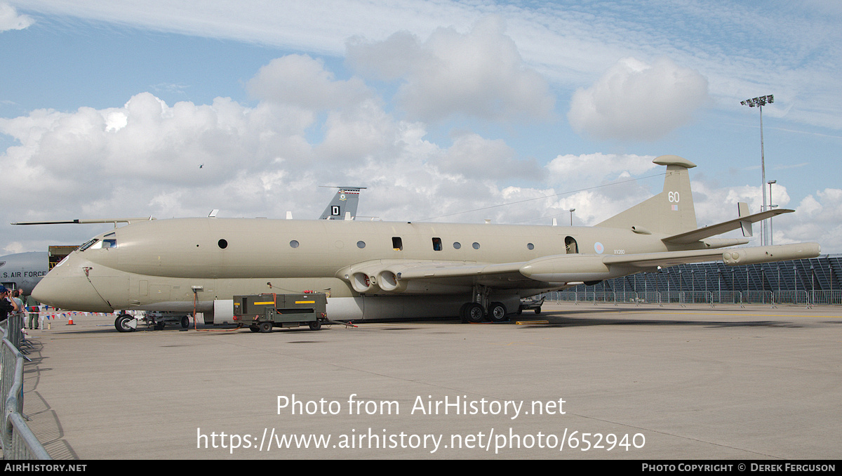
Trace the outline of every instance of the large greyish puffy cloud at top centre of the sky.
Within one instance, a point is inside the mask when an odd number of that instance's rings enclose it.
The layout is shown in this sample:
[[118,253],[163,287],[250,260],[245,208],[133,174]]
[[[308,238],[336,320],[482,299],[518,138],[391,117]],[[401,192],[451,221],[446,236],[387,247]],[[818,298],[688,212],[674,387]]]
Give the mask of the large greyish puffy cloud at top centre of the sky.
[[466,34],[436,29],[423,43],[407,32],[379,42],[355,37],[348,61],[371,78],[400,78],[397,102],[413,119],[545,120],[555,98],[504,31],[503,19],[490,16]]

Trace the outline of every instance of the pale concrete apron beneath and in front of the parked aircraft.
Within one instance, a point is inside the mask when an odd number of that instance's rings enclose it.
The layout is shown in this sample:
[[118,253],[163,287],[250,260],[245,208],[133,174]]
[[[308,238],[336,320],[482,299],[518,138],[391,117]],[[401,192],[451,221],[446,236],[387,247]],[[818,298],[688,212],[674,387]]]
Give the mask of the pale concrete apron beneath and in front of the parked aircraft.
[[30,331],[24,413],[57,459],[842,456],[840,308],[548,304],[507,324],[271,334],[74,322]]

